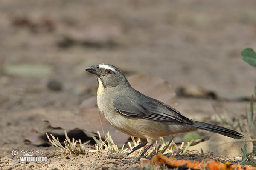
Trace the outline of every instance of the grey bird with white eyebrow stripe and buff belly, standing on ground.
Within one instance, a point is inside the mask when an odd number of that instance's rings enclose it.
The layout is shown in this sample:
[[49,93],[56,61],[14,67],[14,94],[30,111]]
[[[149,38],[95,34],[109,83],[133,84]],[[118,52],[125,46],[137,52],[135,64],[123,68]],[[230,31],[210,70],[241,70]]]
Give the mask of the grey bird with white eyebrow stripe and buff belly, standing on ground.
[[140,138],[140,144],[127,155],[145,146],[137,161],[156,139],[177,133],[202,129],[231,138],[243,138],[235,130],[189,119],[172,106],[140,93],[113,65],[102,63],[85,70],[97,78],[97,105],[105,119],[120,132]]

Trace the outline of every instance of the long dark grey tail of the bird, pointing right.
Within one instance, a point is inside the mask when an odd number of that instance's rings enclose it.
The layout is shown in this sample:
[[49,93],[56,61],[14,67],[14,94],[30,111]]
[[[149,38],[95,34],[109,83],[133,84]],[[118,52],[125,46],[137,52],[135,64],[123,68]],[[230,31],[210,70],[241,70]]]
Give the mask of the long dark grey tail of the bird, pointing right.
[[219,133],[221,135],[228,136],[231,138],[242,139],[244,137],[241,133],[239,133],[235,130],[227,129],[225,127],[221,127],[218,125],[212,125],[209,123],[195,121],[194,126],[198,129],[207,130],[207,131],[214,132],[214,133]]

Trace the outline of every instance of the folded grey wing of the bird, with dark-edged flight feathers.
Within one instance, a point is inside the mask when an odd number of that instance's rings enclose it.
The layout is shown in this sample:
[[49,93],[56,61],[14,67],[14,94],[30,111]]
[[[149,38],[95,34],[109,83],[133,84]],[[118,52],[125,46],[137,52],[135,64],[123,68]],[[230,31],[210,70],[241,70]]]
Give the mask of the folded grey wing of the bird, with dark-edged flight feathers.
[[116,96],[113,99],[113,107],[125,116],[193,124],[191,119],[183,116],[175,108],[144,95],[139,101],[128,96]]

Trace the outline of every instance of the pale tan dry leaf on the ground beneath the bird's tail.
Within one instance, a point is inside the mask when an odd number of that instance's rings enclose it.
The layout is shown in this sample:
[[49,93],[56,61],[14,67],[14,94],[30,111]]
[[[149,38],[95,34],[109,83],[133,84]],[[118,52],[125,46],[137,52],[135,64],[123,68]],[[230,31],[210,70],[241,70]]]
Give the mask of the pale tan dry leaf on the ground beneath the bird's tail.
[[[248,135],[246,140],[250,139]],[[209,140],[190,146],[188,150],[200,150],[204,153],[213,153],[215,156],[238,156],[242,155],[241,148],[244,148],[244,139],[233,139],[220,134],[213,134]],[[253,151],[253,142],[247,142],[247,153]]]

